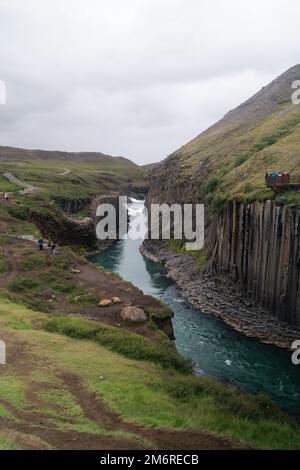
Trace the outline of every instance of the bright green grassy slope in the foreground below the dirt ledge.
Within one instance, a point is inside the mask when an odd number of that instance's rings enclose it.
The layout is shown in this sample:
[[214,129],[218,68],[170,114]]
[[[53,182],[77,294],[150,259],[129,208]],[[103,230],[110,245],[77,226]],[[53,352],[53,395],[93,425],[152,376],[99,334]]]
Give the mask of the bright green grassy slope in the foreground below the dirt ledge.
[[[0,421],[6,423],[0,448],[55,447],[60,431],[75,433],[75,446],[87,435],[90,440],[97,436],[98,444],[110,436],[111,446],[116,438],[131,439],[136,448],[153,446],[141,428],[129,433],[124,423],[130,422],[152,429],[209,431],[244,446],[300,448],[299,426],[268,399],[176,372],[172,365],[162,368],[138,354],[128,358],[103,342],[106,336],[98,322],[49,318],[1,300],[0,325],[8,348],[8,363],[0,369]],[[93,328],[98,336],[91,335]],[[111,340],[117,335],[120,342],[121,334],[127,341],[126,332],[110,330]],[[97,412],[97,399],[121,416],[112,427],[104,419],[107,409]],[[88,412],[90,406],[94,414]]]

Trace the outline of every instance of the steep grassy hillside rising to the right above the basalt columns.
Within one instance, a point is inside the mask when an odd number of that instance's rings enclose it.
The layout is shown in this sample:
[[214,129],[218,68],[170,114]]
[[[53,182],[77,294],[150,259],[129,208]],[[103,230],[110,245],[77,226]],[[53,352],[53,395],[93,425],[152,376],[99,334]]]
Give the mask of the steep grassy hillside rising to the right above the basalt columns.
[[[297,65],[170,155],[153,170],[155,191],[163,188],[168,200],[188,194],[188,187],[215,205],[229,198],[273,198],[266,171],[300,175],[300,105],[291,100],[292,83],[299,79]],[[300,203],[295,192],[284,199]]]

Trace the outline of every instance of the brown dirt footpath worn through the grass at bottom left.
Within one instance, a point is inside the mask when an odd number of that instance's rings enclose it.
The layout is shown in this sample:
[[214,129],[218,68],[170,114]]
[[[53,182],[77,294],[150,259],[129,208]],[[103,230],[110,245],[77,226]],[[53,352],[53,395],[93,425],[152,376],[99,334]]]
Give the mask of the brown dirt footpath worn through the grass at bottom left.
[[[43,412],[43,403],[39,397],[51,391],[52,384],[32,381],[31,377],[39,370],[49,368],[47,359],[35,357],[32,345],[19,339],[18,333],[2,334],[9,350],[11,372],[26,385],[26,407],[20,409],[8,401],[0,399],[0,404],[14,416],[13,419],[0,417],[0,433],[12,434],[20,447],[26,449],[236,449],[239,443],[219,438],[200,431],[170,430],[146,428],[136,423],[129,423],[112,411],[94,393],[91,393],[83,379],[78,375],[57,368],[60,389],[68,391],[75,397],[85,418],[94,422],[103,430],[101,435],[58,429],[51,414]],[[35,370],[36,369],[36,370]],[[0,369],[1,373],[4,369]],[[32,408],[30,408],[30,403]],[[29,405],[29,406],[28,406]],[[62,417],[63,419],[63,417]],[[112,435],[119,433],[119,436]],[[122,436],[123,434],[123,436]],[[24,438],[27,436],[27,438]]]

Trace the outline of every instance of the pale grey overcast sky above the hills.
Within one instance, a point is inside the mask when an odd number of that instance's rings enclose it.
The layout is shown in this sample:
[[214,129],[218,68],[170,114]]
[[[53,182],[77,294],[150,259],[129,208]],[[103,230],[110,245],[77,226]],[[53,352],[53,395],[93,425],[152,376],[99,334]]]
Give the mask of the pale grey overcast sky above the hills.
[[0,145],[159,161],[299,63],[299,31],[299,0],[0,0]]

